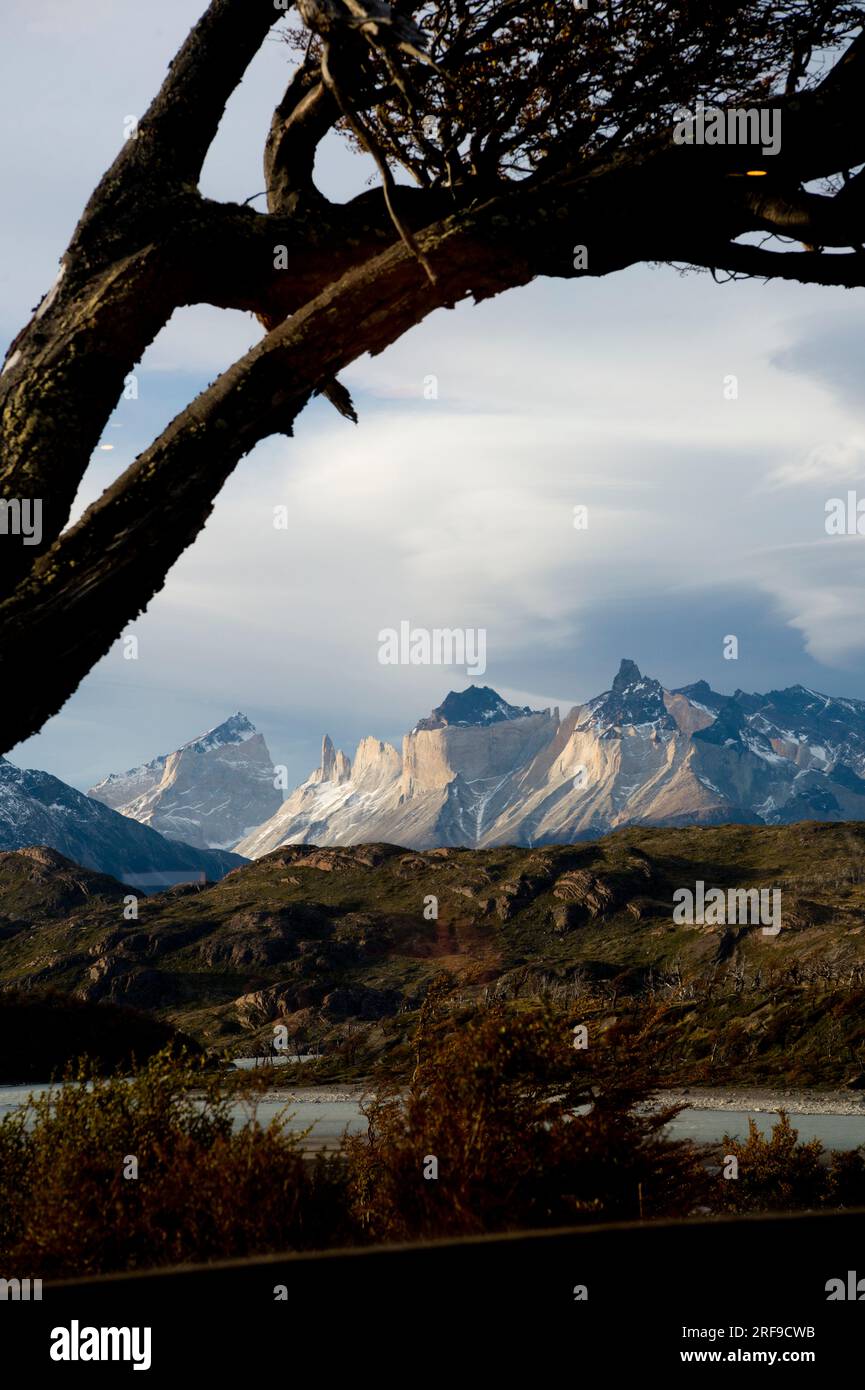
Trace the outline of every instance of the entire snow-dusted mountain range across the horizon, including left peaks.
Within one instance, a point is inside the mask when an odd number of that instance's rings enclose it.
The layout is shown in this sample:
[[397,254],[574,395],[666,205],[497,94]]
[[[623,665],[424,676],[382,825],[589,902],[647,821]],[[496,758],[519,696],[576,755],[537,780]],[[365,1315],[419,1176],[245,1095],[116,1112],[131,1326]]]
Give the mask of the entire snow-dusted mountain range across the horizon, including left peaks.
[[0,851],[49,845],[152,887],[218,880],[292,844],[533,848],[624,826],[865,820],[865,701],[666,689],[631,660],[565,717],[470,685],[399,751],[367,737],[349,759],[325,734],[318,767],[281,796],[264,738],[236,713],[86,796],[0,759]]

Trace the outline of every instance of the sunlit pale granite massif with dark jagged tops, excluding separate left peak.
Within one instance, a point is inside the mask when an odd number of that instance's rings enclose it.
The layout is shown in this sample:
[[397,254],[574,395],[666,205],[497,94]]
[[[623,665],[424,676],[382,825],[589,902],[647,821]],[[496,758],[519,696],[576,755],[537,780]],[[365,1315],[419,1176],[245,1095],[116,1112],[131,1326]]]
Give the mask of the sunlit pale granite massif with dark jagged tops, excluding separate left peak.
[[865,702],[804,685],[666,689],[623,660],[608,691],[558,709],[488,687],[448,698],[403,737],[321,762],[236,844],[388,841],[412,849],[592,840],[623,826],[865,820]]

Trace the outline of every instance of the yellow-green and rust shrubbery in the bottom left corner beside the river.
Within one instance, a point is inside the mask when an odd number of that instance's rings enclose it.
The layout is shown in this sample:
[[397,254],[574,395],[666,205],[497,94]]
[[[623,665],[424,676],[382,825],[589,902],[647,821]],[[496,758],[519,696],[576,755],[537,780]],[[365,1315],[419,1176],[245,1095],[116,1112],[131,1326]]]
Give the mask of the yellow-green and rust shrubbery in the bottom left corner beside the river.
[[342,1170],[254,1119],[200,1061],[159,1054],[129,1079],[81,1069],[0,1125],[0,1257],[40,1277],[339,1244]]

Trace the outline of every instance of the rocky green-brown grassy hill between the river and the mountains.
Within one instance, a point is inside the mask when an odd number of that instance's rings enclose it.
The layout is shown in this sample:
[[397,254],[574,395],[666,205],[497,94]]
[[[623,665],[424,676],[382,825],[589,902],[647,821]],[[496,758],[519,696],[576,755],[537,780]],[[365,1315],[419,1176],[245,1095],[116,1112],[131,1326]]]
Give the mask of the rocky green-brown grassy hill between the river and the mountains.
[[[855,1083],[865,1070],[865,826],[648,828],[540,849],[296,845],[138,899],[42,851],[0,855],[0,988],[131,1005],[236,1054],[284,1022],[305,1079],[407,1062],[430,981],[570,1020],[656,1012],[676,1083]],[[676,926],[673,892],[780,888],[782,931]],[[432,901],[434,899],[434,901]],[[434,916],[437,909],[437,916]],[[310,1068],[313,1068],[310,1070]]]

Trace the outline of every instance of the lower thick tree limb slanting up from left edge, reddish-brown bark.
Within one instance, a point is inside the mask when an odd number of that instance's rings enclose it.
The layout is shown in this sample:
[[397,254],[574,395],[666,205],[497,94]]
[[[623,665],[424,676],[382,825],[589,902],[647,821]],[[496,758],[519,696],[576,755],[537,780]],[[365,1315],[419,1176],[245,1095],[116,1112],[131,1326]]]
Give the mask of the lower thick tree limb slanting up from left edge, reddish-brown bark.
[[[509,210],[494,200],[421,232],[435,289],[396,245],[273,329],[178,416],[0,606],[0,673],[19,695],[4,717],[6,746],[60,709],[163,587],[238,460],[289,434],[316,389],[434,309],[527,284],[552,264],[565,272],[572,232],[551,215],[517,190]],[[608,257],[611,270],[629,260],[613,235]]]

